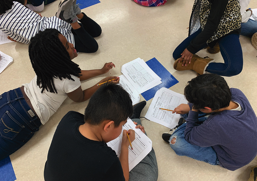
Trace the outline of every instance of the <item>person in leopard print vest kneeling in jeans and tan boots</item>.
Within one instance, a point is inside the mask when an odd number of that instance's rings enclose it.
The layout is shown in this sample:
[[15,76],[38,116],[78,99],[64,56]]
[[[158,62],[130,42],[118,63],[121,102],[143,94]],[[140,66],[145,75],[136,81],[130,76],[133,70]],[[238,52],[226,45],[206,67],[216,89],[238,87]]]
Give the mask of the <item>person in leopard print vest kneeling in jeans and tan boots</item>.
[[[198,75],[214,73],[234,76],[243,68],[239,41],[241,31],[238,0],[195,0],[189,22],[189,36],[173,52],[174,69],[195,70]],[[203,48],[219,49],[224,63],[194,55]]]

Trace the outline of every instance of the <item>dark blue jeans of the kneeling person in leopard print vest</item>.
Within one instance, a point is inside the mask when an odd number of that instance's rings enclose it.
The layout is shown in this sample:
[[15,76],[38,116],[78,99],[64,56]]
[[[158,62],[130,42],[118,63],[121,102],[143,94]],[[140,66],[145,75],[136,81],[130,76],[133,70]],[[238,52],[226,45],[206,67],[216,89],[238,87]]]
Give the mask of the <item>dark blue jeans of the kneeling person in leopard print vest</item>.
[[[173,58],[177,60],[181,57],[181,53],[189,46],[190,42],[201,33],[201,29],[187,37],[173,52]],[[239,35],[230,34],[218,40],[221,55],[224,63],[210,63],[206,70],[209,73],[221,76],[231,77],[241,73],[243,69],[243,52],[239,41]],[[198,51],[205,48],[207,44],[200,47]],[[197,51],[197,52],[198,52]]]

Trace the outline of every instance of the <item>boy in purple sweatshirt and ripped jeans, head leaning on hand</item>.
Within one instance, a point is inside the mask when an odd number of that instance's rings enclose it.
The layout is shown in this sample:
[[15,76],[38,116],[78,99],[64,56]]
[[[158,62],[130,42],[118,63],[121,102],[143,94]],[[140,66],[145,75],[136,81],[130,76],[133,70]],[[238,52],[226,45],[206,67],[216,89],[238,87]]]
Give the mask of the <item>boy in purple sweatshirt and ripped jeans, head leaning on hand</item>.
[[236,170],[257,154],[257,118],[245,95],[216,74],[193,78],[185,87],[189,104],[180,104],[186,120],[162,138],[177,155]]

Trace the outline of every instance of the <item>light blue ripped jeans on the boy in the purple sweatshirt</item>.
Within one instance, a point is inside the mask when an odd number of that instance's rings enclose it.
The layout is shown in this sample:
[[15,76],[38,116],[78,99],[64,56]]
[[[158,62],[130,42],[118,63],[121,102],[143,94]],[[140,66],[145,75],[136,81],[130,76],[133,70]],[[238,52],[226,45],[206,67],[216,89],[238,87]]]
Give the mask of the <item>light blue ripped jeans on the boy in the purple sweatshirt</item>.
[[[207,119],[204,117],[205,113],[199,114],[199,123]],[[182,115],[185,119],[188,114]],[[185,140],[184,132],[186,129],[187,123],[185,122],[174,131],[170,137],[170,142],[172,139],[176,139],[176,142],[170,143],[170,147],[175,151],[179,156],[187,156],[195,160],[204,161],[211,165],[219,165],[219,160],[217,158],[216,151],[212,147],[199,147],[192,145]]]

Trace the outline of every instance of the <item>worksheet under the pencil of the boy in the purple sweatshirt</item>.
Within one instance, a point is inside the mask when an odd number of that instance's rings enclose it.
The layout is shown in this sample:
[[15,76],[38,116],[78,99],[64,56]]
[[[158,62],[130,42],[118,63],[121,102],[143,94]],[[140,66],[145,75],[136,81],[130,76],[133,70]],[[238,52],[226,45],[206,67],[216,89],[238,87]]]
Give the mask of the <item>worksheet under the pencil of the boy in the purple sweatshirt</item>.
[[184,95],[162,87],[155,93],[145,117],[172,129],[177,126],[180,114],[172,114],[172,111],[161,110],[160,108],[174,110],[178,105],[187,103]]

